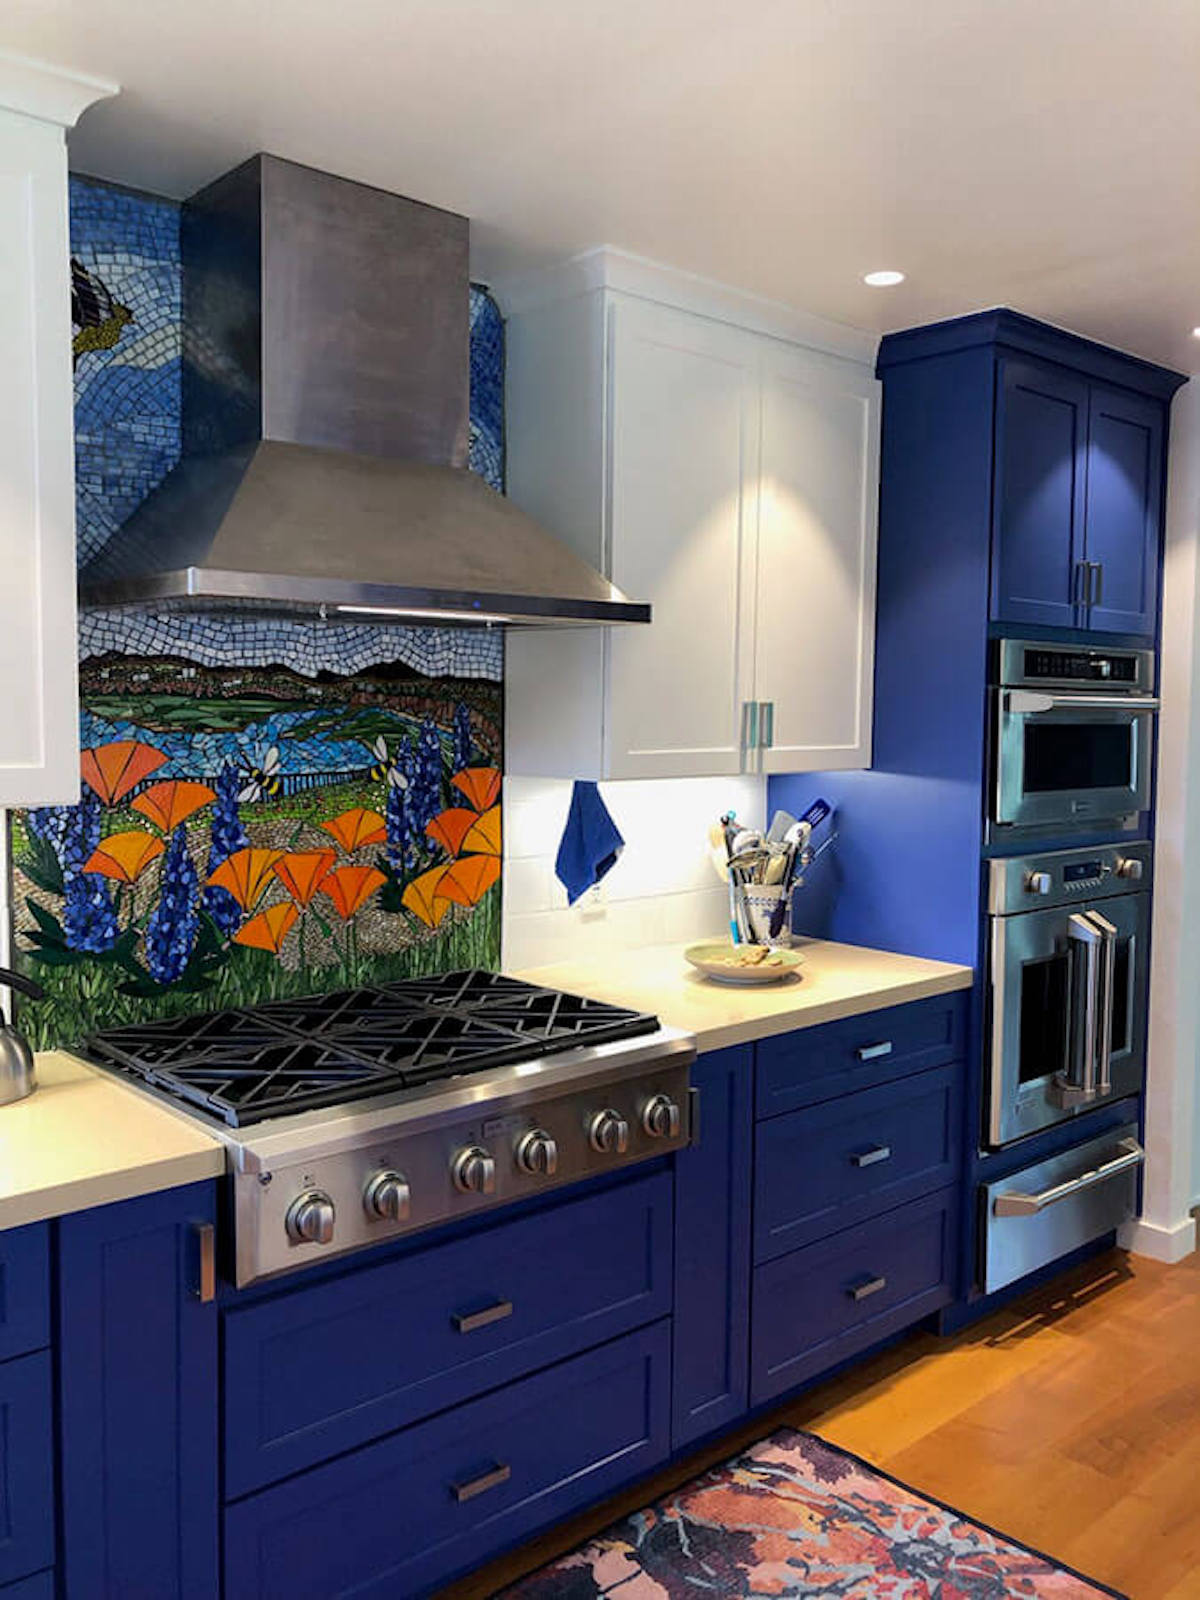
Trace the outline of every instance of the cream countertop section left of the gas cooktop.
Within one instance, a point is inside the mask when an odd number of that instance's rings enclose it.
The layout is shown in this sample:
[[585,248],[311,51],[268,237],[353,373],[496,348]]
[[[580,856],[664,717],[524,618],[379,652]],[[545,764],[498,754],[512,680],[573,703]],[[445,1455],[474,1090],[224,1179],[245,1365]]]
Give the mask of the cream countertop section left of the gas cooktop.
[[192,1118],[61,1050],[0,1106],[0,1229],[216,1178],[221,1142]]

